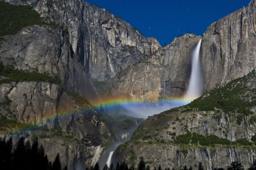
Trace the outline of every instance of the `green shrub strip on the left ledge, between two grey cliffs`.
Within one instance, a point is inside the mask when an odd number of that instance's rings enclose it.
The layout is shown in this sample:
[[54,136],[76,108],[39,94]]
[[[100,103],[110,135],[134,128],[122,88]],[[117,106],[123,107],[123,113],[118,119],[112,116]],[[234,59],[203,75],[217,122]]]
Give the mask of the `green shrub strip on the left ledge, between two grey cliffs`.
[[19,81],[46,81],[60,85],[59,78],[53,78],[47,74],[37,73],[36,71],[25,72],[18,69],[14,69],[12,66],[3,66],[0,62],[0,76],[6,77],[0,80],[0,84],[19,82]]

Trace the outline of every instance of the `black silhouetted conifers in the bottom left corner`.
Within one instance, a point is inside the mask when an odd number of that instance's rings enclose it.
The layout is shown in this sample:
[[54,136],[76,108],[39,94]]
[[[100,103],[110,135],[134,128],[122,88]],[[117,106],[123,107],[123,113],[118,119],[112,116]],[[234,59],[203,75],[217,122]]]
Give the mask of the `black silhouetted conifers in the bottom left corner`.
[[[54,162],[49,162],[44,153],[43,145],[38,145],[35,138],[31,146],[29,140],[21,137],[16,145],[9,140],[0,138],[0,169],[2,170],[61,170],[60,155],[57,154]],[[63,170],[67,170],[67,166]]]

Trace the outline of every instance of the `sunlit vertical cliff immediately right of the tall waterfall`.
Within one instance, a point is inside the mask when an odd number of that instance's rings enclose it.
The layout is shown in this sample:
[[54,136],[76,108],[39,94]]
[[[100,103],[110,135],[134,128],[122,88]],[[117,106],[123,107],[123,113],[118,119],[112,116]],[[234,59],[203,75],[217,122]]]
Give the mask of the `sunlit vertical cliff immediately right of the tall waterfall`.
[[212,23],[202,39],[200,58],[205,88],[242,77],[256,68],[256,2],[252,0]]

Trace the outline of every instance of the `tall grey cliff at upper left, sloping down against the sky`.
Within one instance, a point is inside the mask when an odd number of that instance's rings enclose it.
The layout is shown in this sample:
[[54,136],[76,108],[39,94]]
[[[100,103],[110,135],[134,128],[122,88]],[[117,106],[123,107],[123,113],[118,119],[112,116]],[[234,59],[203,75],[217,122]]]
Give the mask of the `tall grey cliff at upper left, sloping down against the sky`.
[[30,4],[41,17],[67,27],[70,49],[93,80],[108,80],[150,53],[146,38],[130,24],[84,0],[9,2]]

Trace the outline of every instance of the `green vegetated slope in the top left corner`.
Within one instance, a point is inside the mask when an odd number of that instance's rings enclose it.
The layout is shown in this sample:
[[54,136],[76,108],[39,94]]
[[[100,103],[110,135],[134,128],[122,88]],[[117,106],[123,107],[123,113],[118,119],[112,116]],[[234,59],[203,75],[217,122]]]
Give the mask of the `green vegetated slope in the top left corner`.
[[26,26],[43,24],[39,13],[31,6],[0,1],[0,36],[14,34]]

